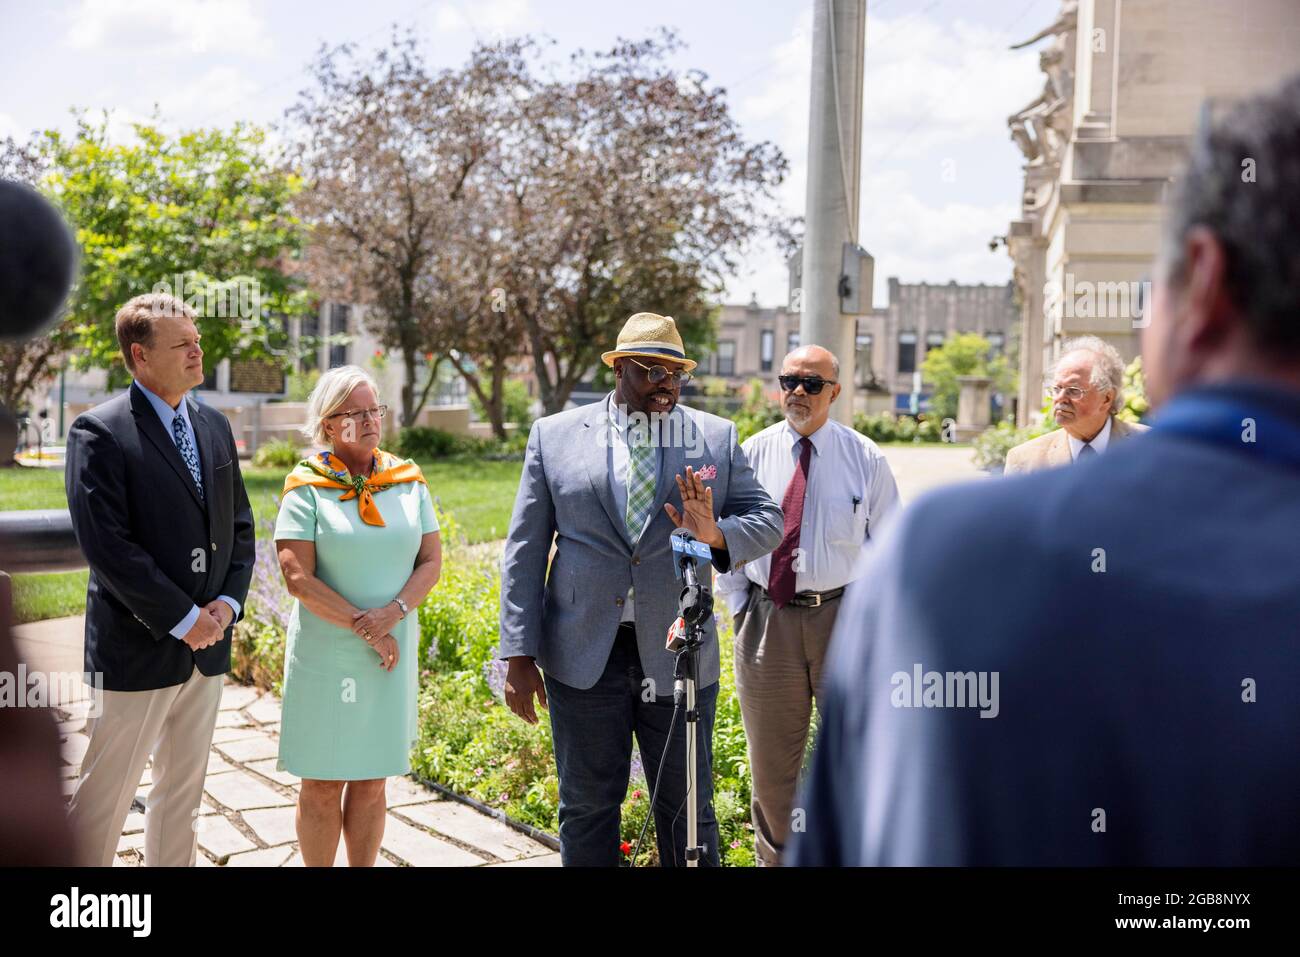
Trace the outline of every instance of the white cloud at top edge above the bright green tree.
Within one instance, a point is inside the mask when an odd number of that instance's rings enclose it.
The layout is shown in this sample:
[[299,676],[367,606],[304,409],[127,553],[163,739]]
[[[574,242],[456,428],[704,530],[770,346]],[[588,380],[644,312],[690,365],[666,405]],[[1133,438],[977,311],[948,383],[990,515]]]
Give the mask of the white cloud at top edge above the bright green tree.
[[255,0],[81,0],[68,14],[77,51],[268,56],[274,44]]

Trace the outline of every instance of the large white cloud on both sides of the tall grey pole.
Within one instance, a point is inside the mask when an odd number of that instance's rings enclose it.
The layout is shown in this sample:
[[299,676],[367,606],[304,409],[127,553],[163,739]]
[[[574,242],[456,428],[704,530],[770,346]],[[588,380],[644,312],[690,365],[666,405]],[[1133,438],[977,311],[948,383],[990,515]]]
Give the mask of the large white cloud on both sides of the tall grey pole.
[[[790,160],[779,195],[793,213],[803,212],[807,183],[811,30],[806,10],[789,39],[772,48],[764,82],[740,90],[736,101],[745,129],[763,130]],[[868,17],[859,242],[876,259],[876,306],[885,302],[890,276],[905,282],[1009,278],[1010,260],[991,254],[988,241],[1017,218],[1018,195],[992,190],[989,196],[970,170],[1006,142],[1006,117],[1041,90],[1037,52],[1009,51],[1015,39],[961,20]],[[755,251],[728,283],[727,298],[744,302],[754,290],[764,304],[783,303],[786,285],[781,257]]]

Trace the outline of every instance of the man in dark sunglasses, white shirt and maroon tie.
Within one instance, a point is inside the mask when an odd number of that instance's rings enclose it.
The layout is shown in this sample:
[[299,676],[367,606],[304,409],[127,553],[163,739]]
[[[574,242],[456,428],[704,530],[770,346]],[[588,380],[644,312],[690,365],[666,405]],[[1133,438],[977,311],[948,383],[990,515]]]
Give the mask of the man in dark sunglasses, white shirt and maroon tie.
[[760,865],[780,863],[822,662],[840,596],[898,489],[866,436],[831,421],[840,363],[820,346],[781,364],[785,421],[745,441],[758,481],[781,503],[785,528],[768,557],[736,567],[718,589],[736,616],[736,690],[754,778],[750,811]]

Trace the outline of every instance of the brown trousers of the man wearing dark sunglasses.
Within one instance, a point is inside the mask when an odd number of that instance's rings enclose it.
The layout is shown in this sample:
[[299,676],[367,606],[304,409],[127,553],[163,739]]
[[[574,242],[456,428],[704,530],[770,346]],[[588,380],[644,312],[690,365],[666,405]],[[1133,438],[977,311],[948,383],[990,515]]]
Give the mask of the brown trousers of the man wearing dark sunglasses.
[[812,702],[840,598],[777,609],[751,585],[736,635],[736,693],[754,779],[750,810],[759,866],[780,863],[807,746]]

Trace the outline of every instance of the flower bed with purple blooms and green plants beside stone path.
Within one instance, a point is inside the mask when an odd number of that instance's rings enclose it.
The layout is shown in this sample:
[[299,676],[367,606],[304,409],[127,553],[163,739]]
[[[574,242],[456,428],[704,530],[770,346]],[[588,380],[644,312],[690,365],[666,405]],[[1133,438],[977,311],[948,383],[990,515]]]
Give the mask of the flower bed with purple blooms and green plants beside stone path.
[[[500,576],[497,560],[465,545],[455,519],[439,511],[442,579],[419,609],[420,740],[411,768],[428,780],[503,811],[549,833],[558,833],[559,781],[546,720],[530,726],[503,701],[504,662],[497,661]],[[244,683],[282,692],[285,628],[292,599],[285,592],[269,528],[257,538],[257,560],[246,615],[235,625],[231,672]],[[732,625],[718,616],[722,688],[714,727],[714,810],[727,865],[754,862],[749,823],[749,758],[732,675]],[[640,755],[623,804],[624,854],[649,811],[649,788]],[[653,826],[651,826],[653,831]],[[656,861],[654,835],[637,856]]]

